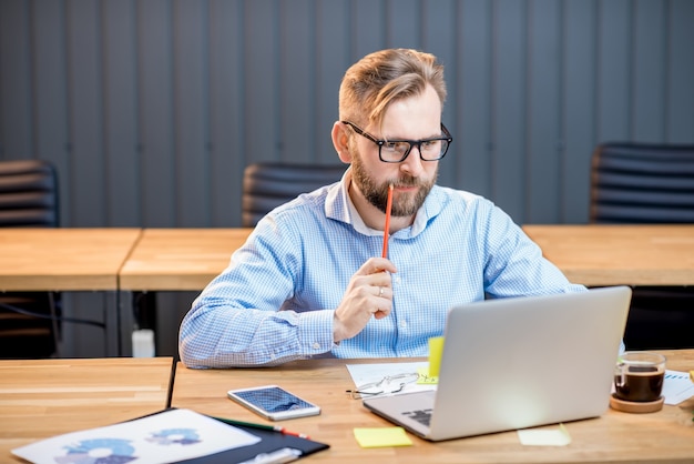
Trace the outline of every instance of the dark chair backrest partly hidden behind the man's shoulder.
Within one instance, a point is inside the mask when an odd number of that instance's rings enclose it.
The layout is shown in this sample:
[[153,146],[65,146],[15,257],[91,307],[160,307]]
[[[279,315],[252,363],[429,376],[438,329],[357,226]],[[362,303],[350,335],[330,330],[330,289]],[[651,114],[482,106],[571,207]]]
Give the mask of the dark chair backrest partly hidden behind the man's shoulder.
[[341,179],[345,164],[254,163],[244,171],[242,225],[253,228],[268,212]]

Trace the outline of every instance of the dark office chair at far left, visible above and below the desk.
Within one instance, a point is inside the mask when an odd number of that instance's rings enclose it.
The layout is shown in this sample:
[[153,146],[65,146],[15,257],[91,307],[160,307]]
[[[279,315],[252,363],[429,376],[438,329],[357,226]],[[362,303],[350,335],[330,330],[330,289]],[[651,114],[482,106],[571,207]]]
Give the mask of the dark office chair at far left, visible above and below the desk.
[[[0,226],[58,225],[58,175],[53,165],[40,160],[0,161]],[[0,357],[53,355],[60,313],[58,293],[0,292]]]

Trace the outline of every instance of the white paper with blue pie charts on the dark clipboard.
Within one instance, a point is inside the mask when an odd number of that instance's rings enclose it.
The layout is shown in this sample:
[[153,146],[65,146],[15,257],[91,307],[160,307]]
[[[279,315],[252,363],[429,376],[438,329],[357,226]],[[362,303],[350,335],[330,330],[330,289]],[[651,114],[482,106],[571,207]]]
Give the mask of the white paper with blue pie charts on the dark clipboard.
[[12,450],[37,464],[171,463],[206,456],[261,438],[190,410],[58,435]]

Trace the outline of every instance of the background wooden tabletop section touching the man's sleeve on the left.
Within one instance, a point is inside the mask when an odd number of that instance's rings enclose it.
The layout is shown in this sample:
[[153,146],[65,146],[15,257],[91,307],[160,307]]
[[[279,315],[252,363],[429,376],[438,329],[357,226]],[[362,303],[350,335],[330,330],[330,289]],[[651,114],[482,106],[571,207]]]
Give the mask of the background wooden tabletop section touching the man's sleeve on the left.
[[252,229],[145,229],[120,273],[121,290],[201,291]]

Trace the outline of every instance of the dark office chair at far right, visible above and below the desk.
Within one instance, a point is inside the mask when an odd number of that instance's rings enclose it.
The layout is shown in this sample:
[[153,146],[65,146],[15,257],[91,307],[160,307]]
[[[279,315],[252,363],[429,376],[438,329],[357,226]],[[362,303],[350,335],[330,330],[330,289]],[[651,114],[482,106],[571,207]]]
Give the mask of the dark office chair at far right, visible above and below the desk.
[[[694,223],[694,145],[604,143],[593,152],[590,221]],[[633,289],[629,350],[694,347],[694,288]]]

